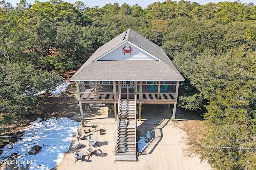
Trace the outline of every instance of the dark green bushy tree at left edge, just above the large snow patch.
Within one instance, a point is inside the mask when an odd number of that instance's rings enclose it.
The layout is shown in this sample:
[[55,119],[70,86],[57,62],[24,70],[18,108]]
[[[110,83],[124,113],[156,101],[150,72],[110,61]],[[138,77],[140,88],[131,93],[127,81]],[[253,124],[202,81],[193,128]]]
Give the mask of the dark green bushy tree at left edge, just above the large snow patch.
[[37,70],[34,65],[0,64],[0,122],[37,106],[41,90],[53,90],[62,77],[56,72]]

